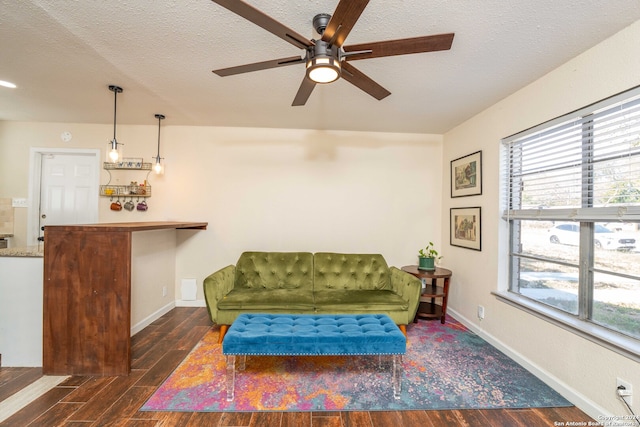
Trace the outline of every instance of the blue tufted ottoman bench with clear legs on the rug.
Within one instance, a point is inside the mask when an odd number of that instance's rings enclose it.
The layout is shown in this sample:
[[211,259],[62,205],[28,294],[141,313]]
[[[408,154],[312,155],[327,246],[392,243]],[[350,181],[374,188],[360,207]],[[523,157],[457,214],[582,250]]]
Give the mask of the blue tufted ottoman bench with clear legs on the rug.
[[392,358],[393,396],[400,398],[407,340],[385,314],[242,314],[222,341],[227,362],[227,400],[235,393],[236,356],[383,356]]

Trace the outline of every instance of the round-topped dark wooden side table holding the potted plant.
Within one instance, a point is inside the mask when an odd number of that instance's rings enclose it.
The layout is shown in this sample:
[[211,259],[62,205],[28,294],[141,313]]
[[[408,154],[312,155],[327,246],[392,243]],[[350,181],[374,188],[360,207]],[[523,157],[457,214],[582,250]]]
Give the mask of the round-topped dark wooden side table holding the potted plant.
[[[416,318],[413,319],[414,323],[417,322],[417,318],[423,319],[437,319],[440,318],[440,323],[444,324],[444,319],[447,314],[447,299],[449,298],[449,279],[451,278],[451,270],[446,268],[436,267],[435,270],[420,270],[417,265],[405,265],[402,267],[402,271],[416,276],[425,283],[425,279],[429,280],[426,283],[426,287],[422,289],[422,295],[420,295],[420,305]],[[442,286],[438,286],[438,279],[442,279]],[[442,299],[441,304],[436,304],[436,299]]]

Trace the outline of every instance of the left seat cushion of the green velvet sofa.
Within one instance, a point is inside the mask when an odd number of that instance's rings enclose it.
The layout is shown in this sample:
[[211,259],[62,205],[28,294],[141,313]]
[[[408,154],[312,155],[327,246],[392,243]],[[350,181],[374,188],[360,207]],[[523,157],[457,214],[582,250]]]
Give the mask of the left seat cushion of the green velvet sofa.
[[313,312],[311,289],[233,289],[218,301],[218,310],[308,310]]

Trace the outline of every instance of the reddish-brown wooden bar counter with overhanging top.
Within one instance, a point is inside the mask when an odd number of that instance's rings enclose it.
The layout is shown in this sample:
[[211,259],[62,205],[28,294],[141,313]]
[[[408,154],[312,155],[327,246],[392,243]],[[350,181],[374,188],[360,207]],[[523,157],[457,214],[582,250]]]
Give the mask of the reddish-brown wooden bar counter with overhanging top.
[[43,373],[129,375],[132,234],[206,227],[169,221],[46,226]]

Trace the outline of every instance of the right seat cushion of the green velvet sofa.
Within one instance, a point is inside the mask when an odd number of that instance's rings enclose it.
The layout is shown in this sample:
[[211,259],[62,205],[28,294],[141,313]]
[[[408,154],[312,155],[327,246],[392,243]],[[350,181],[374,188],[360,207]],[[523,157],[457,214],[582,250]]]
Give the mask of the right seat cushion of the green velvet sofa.
[[407,310],[409,303],[388,291],[326,290],[314,292],[318,312],[386,312]]

